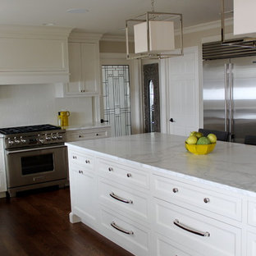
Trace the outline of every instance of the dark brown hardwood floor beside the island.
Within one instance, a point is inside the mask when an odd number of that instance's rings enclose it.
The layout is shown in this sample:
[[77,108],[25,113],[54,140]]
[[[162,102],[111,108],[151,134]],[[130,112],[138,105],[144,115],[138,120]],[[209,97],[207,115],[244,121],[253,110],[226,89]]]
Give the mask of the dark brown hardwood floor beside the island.
[[71,224],[69,188],[0,199],[0,255],[131,256],[82,223]]

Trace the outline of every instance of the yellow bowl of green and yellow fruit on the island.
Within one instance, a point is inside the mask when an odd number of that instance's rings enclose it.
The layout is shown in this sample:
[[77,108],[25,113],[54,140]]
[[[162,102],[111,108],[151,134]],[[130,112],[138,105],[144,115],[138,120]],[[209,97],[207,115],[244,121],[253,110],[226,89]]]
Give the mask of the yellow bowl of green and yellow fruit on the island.
[[185,149],[194,154],[207,154],[215,148],[217,137],[214,134],[203,136],[201,132],[192,131],[185,139]]

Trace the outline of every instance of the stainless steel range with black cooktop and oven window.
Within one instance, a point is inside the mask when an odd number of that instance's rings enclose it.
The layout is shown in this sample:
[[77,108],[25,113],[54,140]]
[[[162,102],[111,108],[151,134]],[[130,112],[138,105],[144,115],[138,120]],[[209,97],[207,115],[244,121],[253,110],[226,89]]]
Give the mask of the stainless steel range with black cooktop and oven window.
[[0,129],[4,136],[7,191],[16,192],[67,182],[65,130],[52,125]]

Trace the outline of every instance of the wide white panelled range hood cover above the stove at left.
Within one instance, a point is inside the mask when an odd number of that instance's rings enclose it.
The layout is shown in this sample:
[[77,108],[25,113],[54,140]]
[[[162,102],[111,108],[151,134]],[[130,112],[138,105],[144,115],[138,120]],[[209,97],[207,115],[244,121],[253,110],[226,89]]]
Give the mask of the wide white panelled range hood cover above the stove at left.
[[0,85],[69,80],[70,28],[0,26]]

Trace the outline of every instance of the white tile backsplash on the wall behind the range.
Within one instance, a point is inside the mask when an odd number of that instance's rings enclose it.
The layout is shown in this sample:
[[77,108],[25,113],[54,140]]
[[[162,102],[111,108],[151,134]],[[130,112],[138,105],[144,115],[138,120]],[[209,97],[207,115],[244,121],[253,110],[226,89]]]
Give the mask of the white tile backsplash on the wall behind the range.
[[54,85],[0,86],[0,127],[57,125],[64,109],[71,112],[70,125],[93,121],[92,98],[55,98]]

